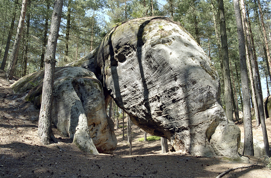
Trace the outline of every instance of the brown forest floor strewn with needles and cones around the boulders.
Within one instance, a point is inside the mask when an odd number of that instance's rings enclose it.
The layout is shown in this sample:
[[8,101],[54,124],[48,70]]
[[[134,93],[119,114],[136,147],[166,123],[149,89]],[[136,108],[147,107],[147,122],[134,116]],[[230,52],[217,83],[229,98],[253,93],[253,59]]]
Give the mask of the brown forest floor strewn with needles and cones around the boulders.
[[[213,178],[232,167],[257,163],[235,162],[227,158],[202,158],[180,152],[161,154],[160,140],[139,142],[144,132],[132,124],[132,155],[116,129],[118,145],[114,155],[91,155],[77,148],[53,128],[58,143],[42,145],[37,137],[39,110],[14,94],[0,74],[0,177],[139,177]],[[255,125],[255,122],[253,123]],[[120,125],[122,122],[120,121]],[[269,136],[271,120],[266,120]],[[238,125],[242,128],[242,125]],[[241,129],[242,130],[242,129]],[[254,126],[255,135],[261,129]],[[125,131],[126,132],[126,131]],[[256,134],[257,133],[257,134]],[[149,135],[148,135],[149,136]],[[271,138],[269,137],[269,140]],[[171,147],[169,145],[169,147]],[[270,178],[267,168],[238,169],[224,177]]]

